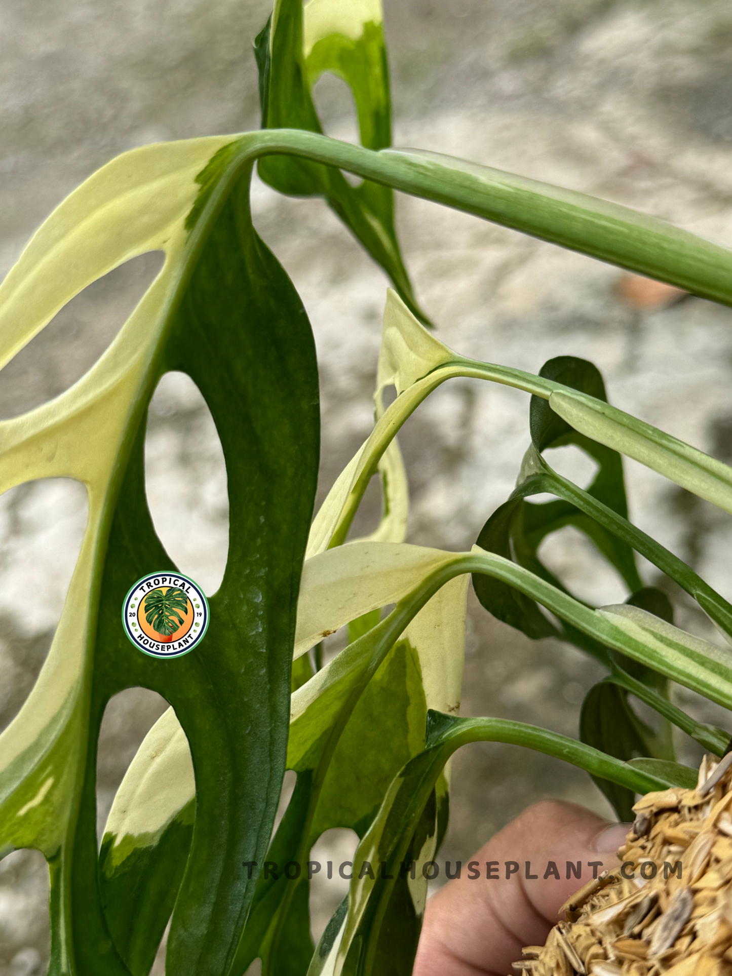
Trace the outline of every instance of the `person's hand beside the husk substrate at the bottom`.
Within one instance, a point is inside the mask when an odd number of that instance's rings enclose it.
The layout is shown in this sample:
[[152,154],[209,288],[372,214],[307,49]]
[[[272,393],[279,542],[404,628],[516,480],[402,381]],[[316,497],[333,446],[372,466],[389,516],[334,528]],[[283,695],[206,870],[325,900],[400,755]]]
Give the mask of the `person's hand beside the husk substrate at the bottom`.
[[[428,900],[413,976],[506,976],[524,946],[544,945],[559,908],[595,871],[618,865],[615,852],[629,830],[575,803],[551,800],[524,810],[474,855],[478,879],[464,871]],[[499,877],[488,880],[490,861],[499,862]],[[520,869],[507,879],[510,861]],[[527,861],[535,880],[526,879]],[[567,861],[582,861],[581,879],[567,880]],[[545,879],[549,862],[559,878]]]

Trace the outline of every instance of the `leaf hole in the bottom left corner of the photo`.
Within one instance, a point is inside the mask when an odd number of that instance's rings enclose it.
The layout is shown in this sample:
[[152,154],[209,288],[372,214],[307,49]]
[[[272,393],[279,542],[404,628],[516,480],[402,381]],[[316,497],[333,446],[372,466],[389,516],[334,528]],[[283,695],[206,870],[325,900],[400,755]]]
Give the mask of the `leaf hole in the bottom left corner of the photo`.
[[40,976],[51,955],[49,873],[40,851],[18,850],[0,862],[0,972]]

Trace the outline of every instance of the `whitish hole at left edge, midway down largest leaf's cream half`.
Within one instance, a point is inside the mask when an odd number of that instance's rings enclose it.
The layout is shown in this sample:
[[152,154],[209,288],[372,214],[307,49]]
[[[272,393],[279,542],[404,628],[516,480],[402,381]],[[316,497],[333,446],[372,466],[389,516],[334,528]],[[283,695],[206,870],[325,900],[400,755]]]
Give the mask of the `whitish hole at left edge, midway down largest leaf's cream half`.
[[0,497],[0,729],[46,660],[86,523],[86,488],[70,478],[26,481]]

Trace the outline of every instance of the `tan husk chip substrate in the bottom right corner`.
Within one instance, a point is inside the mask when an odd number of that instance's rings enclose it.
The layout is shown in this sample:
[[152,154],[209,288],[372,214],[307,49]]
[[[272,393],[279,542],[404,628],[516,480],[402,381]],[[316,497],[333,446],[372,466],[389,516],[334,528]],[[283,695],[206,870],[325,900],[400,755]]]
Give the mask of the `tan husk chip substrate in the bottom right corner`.
[[732,754],[633,811],[620,867],[562,906],[522,976],[732,976]]

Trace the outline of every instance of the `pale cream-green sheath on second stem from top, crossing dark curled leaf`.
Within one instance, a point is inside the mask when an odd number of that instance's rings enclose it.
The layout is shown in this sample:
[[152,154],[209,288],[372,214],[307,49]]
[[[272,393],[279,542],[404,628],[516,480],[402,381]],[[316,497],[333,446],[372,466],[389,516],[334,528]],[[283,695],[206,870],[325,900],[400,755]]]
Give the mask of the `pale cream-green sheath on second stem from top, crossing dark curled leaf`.
[[549,406],[592,440],[628,455],[700,498],[732,512],[732,468],[657,427],[581,393],[556,390]]

